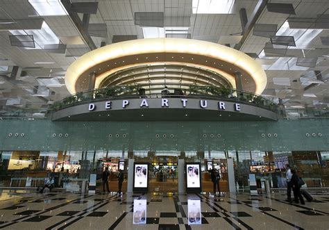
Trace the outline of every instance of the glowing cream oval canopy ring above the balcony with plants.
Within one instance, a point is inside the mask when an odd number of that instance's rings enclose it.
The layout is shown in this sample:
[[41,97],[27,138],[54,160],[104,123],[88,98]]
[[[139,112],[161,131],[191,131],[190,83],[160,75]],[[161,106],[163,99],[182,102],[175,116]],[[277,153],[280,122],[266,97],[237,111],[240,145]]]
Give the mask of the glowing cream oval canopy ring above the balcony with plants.
[[193,66],[210,69],[235,86],[235,72],[242,74],[244,90],[261,94],[267,76],[253,58],[241,51],[212,42],[180,38],[151,38],[110,44],[90,51],[72,63],[65,74],[71,94],[87,90],[89,74],[95,72],[97,88],[107,76],[141,65]]

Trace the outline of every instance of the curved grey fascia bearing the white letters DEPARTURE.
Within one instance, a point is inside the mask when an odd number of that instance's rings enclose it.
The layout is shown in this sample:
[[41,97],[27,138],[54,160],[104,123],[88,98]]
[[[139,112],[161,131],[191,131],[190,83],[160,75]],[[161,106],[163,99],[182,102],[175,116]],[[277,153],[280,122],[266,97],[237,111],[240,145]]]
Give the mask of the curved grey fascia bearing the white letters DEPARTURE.
[[[169,116],[170,115],[170,116]],[[53,113],[53,121],[278,120],[278,114],[256,104],[202,97],[103,99]]]

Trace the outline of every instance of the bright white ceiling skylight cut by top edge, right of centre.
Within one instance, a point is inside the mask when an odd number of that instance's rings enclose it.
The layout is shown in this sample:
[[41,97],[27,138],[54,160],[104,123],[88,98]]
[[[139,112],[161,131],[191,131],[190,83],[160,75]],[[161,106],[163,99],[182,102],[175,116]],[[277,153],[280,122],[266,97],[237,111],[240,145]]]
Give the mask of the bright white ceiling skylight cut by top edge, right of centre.
[[235,0],[192,0],[194,14],[232,14]]

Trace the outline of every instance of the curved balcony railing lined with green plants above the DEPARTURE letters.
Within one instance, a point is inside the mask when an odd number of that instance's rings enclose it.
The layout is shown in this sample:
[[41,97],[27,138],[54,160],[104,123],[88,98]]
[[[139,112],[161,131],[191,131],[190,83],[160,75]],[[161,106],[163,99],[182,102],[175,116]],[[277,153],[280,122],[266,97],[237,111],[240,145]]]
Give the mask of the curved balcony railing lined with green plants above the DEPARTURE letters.
[[[174,89],[173,93],[166,95],[146,94],[146,87],[150,85],[115,85],[110,88],[100,88],[78,92],[75,95],[65,97],[61,101],[56,101],[51,108],[54,111],[63,108],[76,106],[85,102],[98,101],[103,99],[124,99],[124,98],[155,98],[155,97],[199,97],[209,99],[224,99],[226,101],[237,101],[243,104],[251,104],[280,113],[278,104],[260,95],[251,92],[244,92],[228,88],[219,88],[214,85],[184,85],[183,89]],[[145,88],[144,88],[145,87]],[[171,89],[173,90],[173,89]],[[153,89],[154,92],[154,89]]]

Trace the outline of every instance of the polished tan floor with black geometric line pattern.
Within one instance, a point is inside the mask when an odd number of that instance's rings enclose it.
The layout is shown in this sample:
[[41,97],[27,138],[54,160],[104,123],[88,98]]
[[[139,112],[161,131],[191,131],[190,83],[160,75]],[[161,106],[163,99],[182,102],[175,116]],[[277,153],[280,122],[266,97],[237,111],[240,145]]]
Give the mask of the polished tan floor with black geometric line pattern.
[[[79,195],[2,191],[1,229],[329,229],[329,194]],[[200,205],[200,206],[199,206]],[[135,223],[135,224],[134,224]]]

